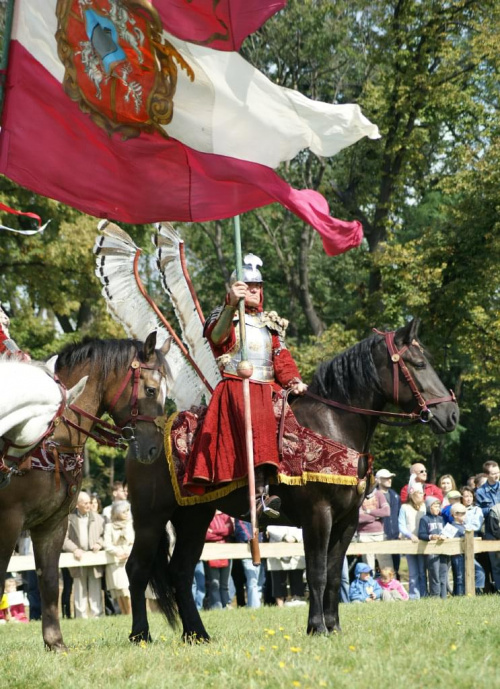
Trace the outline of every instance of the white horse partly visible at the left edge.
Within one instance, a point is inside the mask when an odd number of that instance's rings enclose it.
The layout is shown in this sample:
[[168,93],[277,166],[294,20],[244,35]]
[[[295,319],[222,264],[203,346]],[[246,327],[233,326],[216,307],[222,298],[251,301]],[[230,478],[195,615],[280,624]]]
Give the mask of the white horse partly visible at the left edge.
[[[66,406],[83,392],[87,376],[67,391]],[[63,402],[63,388],[51,370],[37,363],[0,357],[0,448],[21,457],[33,449],[49,430]]]

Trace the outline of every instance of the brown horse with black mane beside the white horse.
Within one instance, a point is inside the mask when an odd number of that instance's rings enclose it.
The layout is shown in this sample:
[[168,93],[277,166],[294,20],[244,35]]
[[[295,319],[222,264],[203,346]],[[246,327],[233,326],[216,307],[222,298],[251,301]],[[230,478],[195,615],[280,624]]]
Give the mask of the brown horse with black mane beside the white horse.
[[[52,456],[60,455],[60,460],[55,459],[52,470],[14,472],[10,485],[0,492],[0,596],[19,534],[29,529],[40,585],[43,640],[48,649],[66,648],[58,615],[58,563],[68,514],[75,507],[81,486],[81,455],[87,437],[97,434],[96,439],[114,443],[113,430],[125,427],[131,451],[145,458],[156,456],[162,445],[155,421],[163,414],[169,372],[164,352],[155,345],[156,334],[152,333],[145,343],[92,339],[63,349],[56,363],[59,379],[67,387],[83,376],[88,380],[78,406],[70,405],[46,444],[49,457],[55,452]],[[112,415],[118,428],[109,424],[99,427],[99,417],[105,412]],[[47,453],[40,456],[47,459]],[[65,466],[68,458],[70,463]]]

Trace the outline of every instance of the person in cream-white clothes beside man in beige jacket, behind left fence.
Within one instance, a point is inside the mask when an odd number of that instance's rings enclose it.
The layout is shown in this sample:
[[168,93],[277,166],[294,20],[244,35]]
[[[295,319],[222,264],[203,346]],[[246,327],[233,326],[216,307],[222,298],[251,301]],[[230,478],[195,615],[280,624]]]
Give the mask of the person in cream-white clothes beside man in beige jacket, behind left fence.
[[111,521],[104,527],[104,549],[115,557],[113,564],[106,565],[106,588],[118,602],[122,615],[132,612],[125,565],[134,545],[134,536],[130,503],[127,500],[114,502]]

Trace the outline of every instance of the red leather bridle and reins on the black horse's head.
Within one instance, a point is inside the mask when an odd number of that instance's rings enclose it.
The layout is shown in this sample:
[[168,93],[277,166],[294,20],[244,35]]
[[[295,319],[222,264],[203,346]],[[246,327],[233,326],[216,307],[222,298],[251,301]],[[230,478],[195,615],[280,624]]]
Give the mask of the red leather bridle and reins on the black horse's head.
[[[309,390],[306,391],[306,396],[311,397],[315,400],[318,400],[319,402],[322,402],[323,404],[326,404],[329,407],[335,407],[337,409],[342,409],[344,411],[351,412],[353,414],[364,414],[368,416],[387,416],[390,418],[399,418],[399,419],[406,419],[408,420],[409,423],[416,423],[420,421],[421,423],[429,423],[429,421],[432,419],[432,411],[429,409],[430,406],[434,406],[436,404],[441,404],[442,402],[456,402],[456,397],[455,393],[453,390],[450,390],[450,394],[447,397],[434,397],[430,400],[425,400],[420,392],[420,390],[417,387],[417,384],[415,383],[415,380],[413,379],[413,376],[411,375],[410,371],[408,370],[408,367],[406,366],[404,360],[403,360],[403,354],[412,346],[415,347],[420,347],[419,343],[416,340],[413,340],[409,345],[404,345],[400,349],[396,347],[395,343],[395,331],[389,331],[389,332],[383,332],[380,330],[377,330],[376,328],[373,329],[374,332],[376,332],[378,335],[382,335],[385,339],[385,344],[387,346],[387,351],[389,354],[389,358],[392,362],[392,381],[393,381],[393,397],[394,401],[397,404],[399,402],[399,372],[403,374],[406,382],[408,383],[408,386],[410,387],[410,390],[412,391],[413,397],[415,398],[417,402],[417,408],[419,411],[413,411],[410,413],[405,413],[405,412],[388,412],[388,411],[375,411],[374,409],[363,409],[361,407],[353,407],[351,405],[347,404],[342,404],[341,402],[335,402],[333,400],[328,400],[325,397],[321,397],[320,395],[316,395],[313,392],[309,392]],[[385,423],[386,425],[388,424],[387,421],[383,421],[380,419],[381,423]],[[403,424],[389,424],[389,425],[403,425]]]

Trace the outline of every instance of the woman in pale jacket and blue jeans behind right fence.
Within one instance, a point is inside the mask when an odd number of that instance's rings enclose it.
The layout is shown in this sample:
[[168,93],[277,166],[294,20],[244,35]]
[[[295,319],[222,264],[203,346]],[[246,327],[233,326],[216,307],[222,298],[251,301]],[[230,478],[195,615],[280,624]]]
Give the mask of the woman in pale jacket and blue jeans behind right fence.
[[[421,490],[412,490],[399,510],[399,532],[402,538],[418,543],[418,527],[425,514],[424,494]],[[409,593],[411,599],[427,595],[425,560],[423,555],[407,555],[409,574]]]

